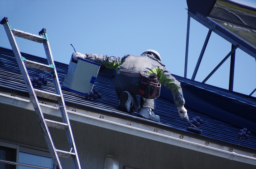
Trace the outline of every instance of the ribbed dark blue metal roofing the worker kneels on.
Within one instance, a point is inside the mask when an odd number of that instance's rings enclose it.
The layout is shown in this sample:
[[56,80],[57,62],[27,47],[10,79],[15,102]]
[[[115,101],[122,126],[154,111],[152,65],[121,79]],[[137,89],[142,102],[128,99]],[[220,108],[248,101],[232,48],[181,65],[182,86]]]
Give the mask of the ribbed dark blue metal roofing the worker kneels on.
[[[14,57],[12,50],[1,48],[0,56],[1,56],[0,57],[0,79],[1,79],[0,86],[8,89],[21,91],[21,92],[27,92],[27,88],[23,82],[23,78],[20,74],[20,70],[18,68],[18,64],[16,62],[16,59]],[[47,60],[44,58],[40,58],[40,57],[36,57],[33,55],[24,54],[24,53],[22,53],[22,56],[31,61],[47,64]],[[62,84],[66,75],[66,71],[68,69],[68,65],[60,62],[55,62],[55,66],[58,72],[60,84]],[[35,70],[32,68],[27,68],[27,69],[28,69],[28,74],[30,78],[38,77],[40,75],[40,76],[44,76],[44,78],[48,80],[47,85],[42,85],[41,87],[35,86],[35,88],[38,88],[47,92],[54,92],[54,86],[53,86],[52,78],[49,72]],[[138,111],[133,114],[128,114],[117,109],[119,100],[117,99],[114,87],[112,85],[112,80],[113,80],[112,77],[105,76],[104,74],[101,74],[101,73],[98,74],[98,77],[96,79],[93,89],[98,90],[100,94],[102,94],[101,99],[87,100],[87,99],[84,99],[83,95],[79,95],[67,90],[63,90],[62,92],[63,92],[65,102],[70,102],[73,104],[96,108],[96,109],[104,109],[105,111],[108,111],[114,114],[121,114],[123,116],[127,115],[132,118],[137,118]],[[217,87],[200,84],[198,82],[191,81],[189,79],[185,79],[178,76],[177,76],[177,80],[183,83],[189,83],[191,85],[198,86],[201,89],[217,92],[221,95],[225,95],[227,97],[231,97],[238,101],[242,101],[247,104],[253,105],[252,99],[248,99],[246,97],[240,97],[240,95],[228,93],[225,90],[219,89]],[[186,131],[188,127],[188,122],[180,118],[177,112],[177,107],[175,107],[172,101],[159,97],[158,99],[156,99],[156,106],[157,106],[156,114],[159,115],[161,119],[159,122],[151,121],[152,123],[157,125],[169,126],[170,129],[174,128],[174,129]],[[238,133],[240,132],[240,128],[234,125],[228,124],[226,122],[220,121],[209,115],[197,112],[188,107],[186,108],[188,110],[188,115],[190,120],[192,120],[192,118],[195,118],[196,116],[199,116],[200,119],[204,121],[203,124],[200,125],[199,129],[203,130],[203,133],[201,134],[201,136],[206,137],[205,138],[206,140],[207,138],[211,138],[214,140],[219,140],[222,142],[231,143],[237,146],[243,146],[246,148],[256,150],[256,136],[254,133],[251,133],[248,140],[244,138],[240,139],[238,138]],[[140,121],[142,122],[142,121],[148,121],[148,120],[140,118]]]

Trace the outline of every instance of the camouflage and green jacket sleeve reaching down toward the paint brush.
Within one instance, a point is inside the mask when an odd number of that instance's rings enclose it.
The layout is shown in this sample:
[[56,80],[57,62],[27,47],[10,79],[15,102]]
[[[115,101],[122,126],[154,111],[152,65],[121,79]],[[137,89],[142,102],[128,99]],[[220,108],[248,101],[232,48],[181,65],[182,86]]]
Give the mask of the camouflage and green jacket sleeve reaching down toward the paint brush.
[[167,89],[172,91],[174,103],[176,107],[181,107],[185,104],[185,99],[183,98],[182,89],[180,87],[180,82],[172,76],[172,74],[164,68],[164,70],[159,72],[158,81],[161,85],[164,85]]

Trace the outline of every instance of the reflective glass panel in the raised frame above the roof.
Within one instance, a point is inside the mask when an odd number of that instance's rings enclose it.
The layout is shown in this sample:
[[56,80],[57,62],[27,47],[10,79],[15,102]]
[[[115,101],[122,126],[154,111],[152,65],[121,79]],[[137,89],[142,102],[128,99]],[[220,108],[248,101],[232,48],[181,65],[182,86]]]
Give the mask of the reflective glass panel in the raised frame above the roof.
[[256,47],[256,9],[228,0],[217,0],[208,16]]

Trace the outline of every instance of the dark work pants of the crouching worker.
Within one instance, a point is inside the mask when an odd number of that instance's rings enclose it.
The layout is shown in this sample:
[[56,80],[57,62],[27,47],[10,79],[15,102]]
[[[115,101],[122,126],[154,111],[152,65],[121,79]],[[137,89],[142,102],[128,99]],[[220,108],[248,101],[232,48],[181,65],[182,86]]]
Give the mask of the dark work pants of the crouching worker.
[[[119,99],[119,96],[122,92],[127,91],[132,94],[134,99],[133,105],[135,106],[135,111],[139,108],[139,101],[137,99],[137,95],[139,94],[141,83],[141,77],[129,77],[121,74],[117,74],[113,79],[113,85]],[[155,99],[145,99],[140,97],[140,108],[149,107],[152,109],[156,109]]]

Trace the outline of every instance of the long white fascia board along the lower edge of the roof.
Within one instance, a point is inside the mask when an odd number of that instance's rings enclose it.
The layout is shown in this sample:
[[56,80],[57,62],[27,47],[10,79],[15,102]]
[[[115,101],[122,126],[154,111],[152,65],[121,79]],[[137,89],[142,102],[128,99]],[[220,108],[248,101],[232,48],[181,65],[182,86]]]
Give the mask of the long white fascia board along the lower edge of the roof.
[[[40,102],[42,101],[39,101],[39,104],[44,114],[61,117],[61,113],[57,105],[54,103],[41,104]],[[0,93],[0,103],[34,111],[34,107],[30,99],[22,96],[10,96],[9,93],[2,92]],[[206,143],[205,140],[200,140],[185,135],[181,136],[180,134],[163,129],[156,129],[152,126],[82,109],[75,109],[74,107],[67,107],[68,117],[70,120],[131,134],[134,136],[144,137],[222,158],[228,158],[231,160],[256,165],[256,158],[254,157],[255,155],[247,151],[233,149],[232,147],[227,147],[216,143]]]

